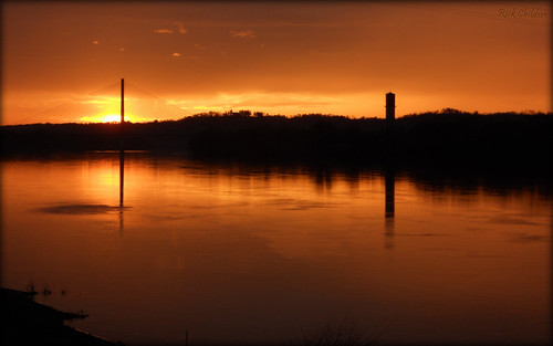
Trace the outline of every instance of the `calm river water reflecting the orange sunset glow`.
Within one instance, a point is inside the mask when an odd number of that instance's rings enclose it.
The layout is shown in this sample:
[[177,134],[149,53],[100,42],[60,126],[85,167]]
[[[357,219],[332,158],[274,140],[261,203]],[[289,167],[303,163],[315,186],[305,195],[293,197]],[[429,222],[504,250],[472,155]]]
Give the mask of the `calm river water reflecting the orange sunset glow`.
[[547,344],[551,196],[520,181],[208,165],[2,161],[2,285],[127,345]]

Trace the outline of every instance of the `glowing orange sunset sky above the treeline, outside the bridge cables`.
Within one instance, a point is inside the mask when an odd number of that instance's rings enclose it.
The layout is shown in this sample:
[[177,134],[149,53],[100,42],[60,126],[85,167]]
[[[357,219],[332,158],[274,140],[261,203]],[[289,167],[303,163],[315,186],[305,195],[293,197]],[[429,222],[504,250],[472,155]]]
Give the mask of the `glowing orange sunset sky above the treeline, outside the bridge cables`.
[[[48,109],[121,77],[189,115],[383,117],[389,91],[398,116],[552,109],[547,2],[2,7],[2,124],[44,120]],[[83,116],[65,112],[56,120],[65,118]]]

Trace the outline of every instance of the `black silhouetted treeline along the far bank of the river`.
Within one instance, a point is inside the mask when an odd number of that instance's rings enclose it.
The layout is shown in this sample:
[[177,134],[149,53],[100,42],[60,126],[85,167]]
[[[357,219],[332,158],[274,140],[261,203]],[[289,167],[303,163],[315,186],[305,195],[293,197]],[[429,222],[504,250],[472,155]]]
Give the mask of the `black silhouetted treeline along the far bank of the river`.
[[[442,109],[397,118],[241,111],[180,120],[125,124],[125,149],[182,153],[201,159],[255,162],[438,164],[462,167],[552,167],[553,114]],[[118,124],[2,126],[2,154],[116,150]]]

